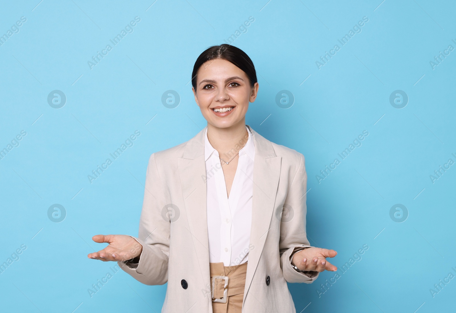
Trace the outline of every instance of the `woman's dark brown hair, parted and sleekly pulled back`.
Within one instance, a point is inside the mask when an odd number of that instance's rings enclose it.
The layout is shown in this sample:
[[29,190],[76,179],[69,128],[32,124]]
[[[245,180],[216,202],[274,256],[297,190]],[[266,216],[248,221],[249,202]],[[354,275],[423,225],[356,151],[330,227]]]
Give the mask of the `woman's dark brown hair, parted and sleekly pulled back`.
[[192,72],[192,86],[197,90],[197,72],[199,68],[207,61],[213,59],[223,59],[233,63],[235,66],[243,70],[249,77],[250,87],[254,87],[257,82],[254,63],[249,56],[238,47],[228,45],[226,43],[220,46],[211,46],[203,51],[197,58]]

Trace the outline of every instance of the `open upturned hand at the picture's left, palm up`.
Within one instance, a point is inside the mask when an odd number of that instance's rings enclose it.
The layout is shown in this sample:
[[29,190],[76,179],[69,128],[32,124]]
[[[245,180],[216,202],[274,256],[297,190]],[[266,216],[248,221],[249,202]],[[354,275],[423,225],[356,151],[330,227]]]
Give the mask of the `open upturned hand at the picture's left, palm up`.
[[95,235],[92,237],[95,242],[106,242],[109,245],[98,252],[89,253],[89,259],[101,261],[127,261],[140,256],[141,244],[135,238],[127,235]]

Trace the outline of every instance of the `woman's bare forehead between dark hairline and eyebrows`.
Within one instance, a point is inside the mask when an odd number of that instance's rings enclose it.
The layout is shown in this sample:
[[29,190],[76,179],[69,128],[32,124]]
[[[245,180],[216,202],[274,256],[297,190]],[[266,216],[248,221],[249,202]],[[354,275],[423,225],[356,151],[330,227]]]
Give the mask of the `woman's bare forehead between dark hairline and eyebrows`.
[[212,59],[204,62],[198,69],[197,81],[202,81],[206,78],[224,79],[231,76],[247,77],[245,72],[233,63],[224,59]]

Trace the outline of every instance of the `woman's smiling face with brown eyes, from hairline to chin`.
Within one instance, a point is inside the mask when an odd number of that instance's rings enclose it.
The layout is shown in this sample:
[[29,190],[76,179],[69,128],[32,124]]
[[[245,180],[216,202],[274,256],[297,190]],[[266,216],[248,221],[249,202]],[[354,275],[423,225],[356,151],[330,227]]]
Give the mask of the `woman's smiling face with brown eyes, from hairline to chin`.
[[250,87],[249,77],[233,63],[223,59],[209,60],[197,72],[195,101],[207,123],[227,128],[245,124],[249,102],[254,102],[258,82]]

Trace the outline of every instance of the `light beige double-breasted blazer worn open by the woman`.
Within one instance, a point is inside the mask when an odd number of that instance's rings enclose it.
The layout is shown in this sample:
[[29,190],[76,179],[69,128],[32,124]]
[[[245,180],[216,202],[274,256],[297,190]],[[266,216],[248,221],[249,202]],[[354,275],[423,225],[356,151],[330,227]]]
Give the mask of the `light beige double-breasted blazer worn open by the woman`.
[[[242,312],[296,312],[286,282],[310,283],[318,277],[318,272],[296,272],[290,264],[295,247],[310,247],[304,156],[247,127],[253,134],[255,160],[251,250]],[[139,236],[134,237],[143,246],[140,262],[136,268],[118,262],[146,285],[168,282],[163,313],[212,312],[205,130],[150,156]]]

